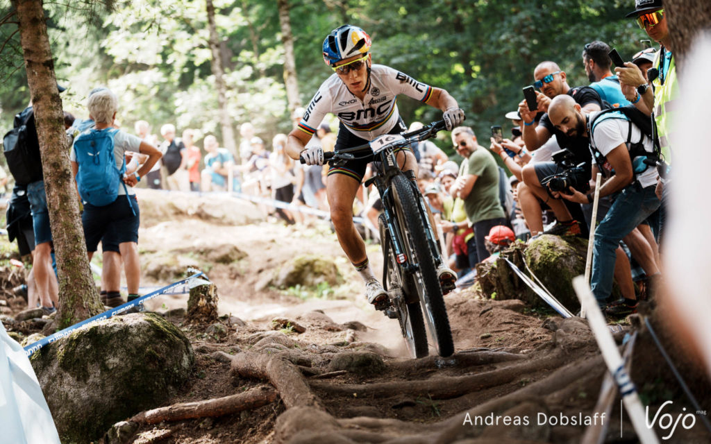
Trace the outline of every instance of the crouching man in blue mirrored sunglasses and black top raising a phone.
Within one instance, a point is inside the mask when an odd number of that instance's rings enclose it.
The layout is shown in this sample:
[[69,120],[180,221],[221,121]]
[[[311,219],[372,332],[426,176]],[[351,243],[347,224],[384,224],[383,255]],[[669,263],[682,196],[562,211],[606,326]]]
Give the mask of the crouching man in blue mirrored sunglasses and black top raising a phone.
[[[560,148],[567,148],[572,153],[572,163],[575,165],[583,163],[586,175],[589,177],[591,167],[587,138],[579,136],[582,132],[576,132],[574,127],[571,128],[570,132],[557,129],[551,123],[547,111],[551,99],[560,95],[567,95],[579,104],[585,114],[597,112],[602,109],[600,96],[591,87],[571,88],[568,86],[565,72],[560,70],[560,67],[554,62],[539,63],[533,72],[533,76],[535,78],[533,86],[540,90],[540,92],[536,92],[538,108],[530,111],[525,100],[518,105],[518,112],[521,119],[523,119],[523,140],[526,148],[529,151],[534,151],[545,144],[550,139],[550,136],[555,135]],[[545,112],[546,114],[543,114],[543,117],[537,122],[535,117],[539,112]],[[584,121],[582,125],[584,126]],[[531,208],[540,209],[540,204],[538,203],[538,199],[540,199],[541,202],[544,202],[553,210],[558,221],[555,227],[547,230],[546,234],[585,235],[587,229],[581,229],[585,227],[585,219],[579,205],[566,206],[564,201],[553,198],[540,184],[541,180],[550,175],[562,173],[563,170],[564,168],[555,162],[529,163],[523,168],[523,182],[533,193],[533,195],[526,193],[525,196],[520,196],[521,207],[528,209],[524,211],[524,216],[531,234],[540,234],[543,231],[540,210],[530,210]]]

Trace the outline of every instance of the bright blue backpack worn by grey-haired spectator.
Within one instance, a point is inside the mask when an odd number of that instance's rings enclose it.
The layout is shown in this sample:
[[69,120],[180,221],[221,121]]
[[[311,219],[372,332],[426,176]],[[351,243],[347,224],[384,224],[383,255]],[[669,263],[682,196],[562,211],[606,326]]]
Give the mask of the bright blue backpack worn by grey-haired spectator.
[[[118,132],[115,128],[89,129],[74,141],[79,165],[79,195],[83,201],[96,207],[104,207],[114,202],[119,195],[119,184],[124,186],[128,195],[126,184],[122,180],[126,172],[126,161],[123,161],[119,170],[114,158],[114,136]],[[131,208],[133,210],[133,206]]]

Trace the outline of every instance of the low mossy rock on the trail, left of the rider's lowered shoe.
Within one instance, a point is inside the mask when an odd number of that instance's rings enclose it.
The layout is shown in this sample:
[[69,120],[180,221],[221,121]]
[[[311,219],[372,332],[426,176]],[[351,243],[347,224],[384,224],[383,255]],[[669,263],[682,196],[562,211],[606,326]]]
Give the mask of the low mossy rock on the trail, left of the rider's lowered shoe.
[[332,260],[329,261],[318,256],[299,256],[282,266],[279,276],[274,281],[274,286],[278,288],[289,288],[296,285],[315,287],[322,282],[336,286],[342,280],[338,266]]

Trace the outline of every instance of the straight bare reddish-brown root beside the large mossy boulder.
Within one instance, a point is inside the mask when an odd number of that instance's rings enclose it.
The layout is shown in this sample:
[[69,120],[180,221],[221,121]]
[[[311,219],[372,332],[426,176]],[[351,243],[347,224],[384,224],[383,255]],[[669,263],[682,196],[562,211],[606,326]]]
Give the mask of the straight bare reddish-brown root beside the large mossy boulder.
[[129,421],[139,424],[157,424],[163,421],[183,421],[184,419],[208,418],[229,415],[250,410],[274,402],[277,392],[267,387],[245,391],[245,393],[208,399],[207,401],[186,402],[172,406],[143,411]]

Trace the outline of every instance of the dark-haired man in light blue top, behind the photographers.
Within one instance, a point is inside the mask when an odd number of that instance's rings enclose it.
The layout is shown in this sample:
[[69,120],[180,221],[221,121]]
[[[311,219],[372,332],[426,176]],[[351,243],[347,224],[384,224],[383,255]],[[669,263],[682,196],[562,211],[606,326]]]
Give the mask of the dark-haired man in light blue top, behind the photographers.
[[610,71],[612,59],[609,52],[610,47],[600,40],[587,43],[582,50],[582,63],[588,80],[592,82],[590,87],[600,98],[615,108],[624,107],[629,101],[622,94],[619,79]]

